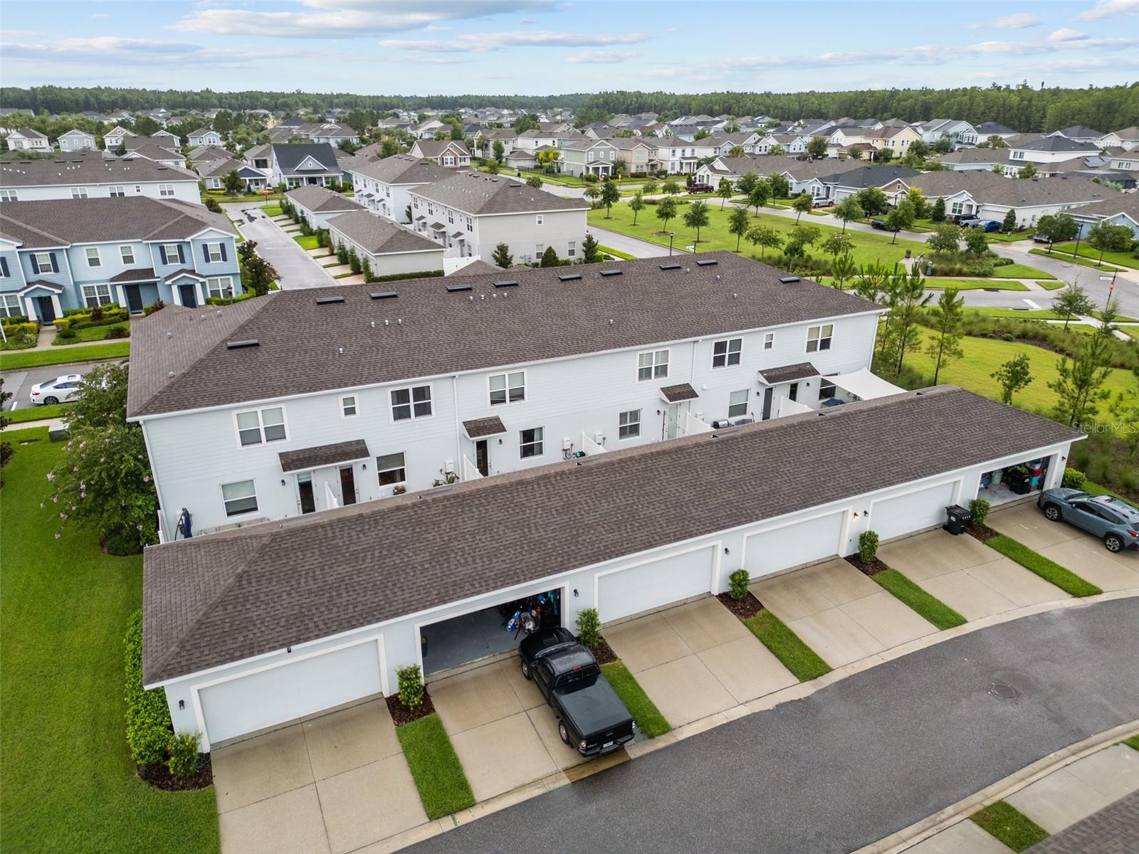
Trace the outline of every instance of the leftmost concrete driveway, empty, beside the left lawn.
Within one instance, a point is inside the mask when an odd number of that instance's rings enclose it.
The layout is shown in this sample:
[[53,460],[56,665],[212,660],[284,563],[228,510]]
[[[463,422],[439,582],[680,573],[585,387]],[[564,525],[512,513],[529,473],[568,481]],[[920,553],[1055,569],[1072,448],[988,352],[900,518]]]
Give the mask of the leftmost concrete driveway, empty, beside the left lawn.
[[224,854],[345,854],[427,821],[383,699],[212,757]]

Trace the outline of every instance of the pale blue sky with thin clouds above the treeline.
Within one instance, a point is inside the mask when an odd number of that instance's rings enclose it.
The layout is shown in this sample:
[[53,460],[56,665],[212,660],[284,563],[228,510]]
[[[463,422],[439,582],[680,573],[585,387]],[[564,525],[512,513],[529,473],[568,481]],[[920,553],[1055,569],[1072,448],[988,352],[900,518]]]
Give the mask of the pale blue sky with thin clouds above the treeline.
[[558,95],[1139,79],[1139,0],[5,0],[6,85]]

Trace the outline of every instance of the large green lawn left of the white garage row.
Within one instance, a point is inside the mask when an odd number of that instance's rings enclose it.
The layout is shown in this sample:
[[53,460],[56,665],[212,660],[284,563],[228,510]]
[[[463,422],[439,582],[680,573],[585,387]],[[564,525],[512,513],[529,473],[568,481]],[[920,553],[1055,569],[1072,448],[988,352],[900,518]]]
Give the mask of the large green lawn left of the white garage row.
[[166,793],[134,777],[123,635],[141,603],[142,559],[104,555],[77,528],[55,539],[58,507],[44,475],[63,446],[47,435],[43,427],[5,432],[16,455],[0,490],[3,847],[216,852],[212,788]]

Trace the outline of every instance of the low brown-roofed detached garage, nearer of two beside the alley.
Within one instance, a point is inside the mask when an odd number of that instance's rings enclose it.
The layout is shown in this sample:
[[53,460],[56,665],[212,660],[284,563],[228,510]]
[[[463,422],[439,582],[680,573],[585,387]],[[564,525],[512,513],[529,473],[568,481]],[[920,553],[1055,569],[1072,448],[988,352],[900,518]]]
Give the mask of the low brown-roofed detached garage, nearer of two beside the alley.
[[[294,192],[303,189],[309,188]],[[331,246],[355,248],[360,258],[368,261],[374,276],[426,276],[443,270],[442,246],[367,211],[334,215],[326,220],[325,227]]]

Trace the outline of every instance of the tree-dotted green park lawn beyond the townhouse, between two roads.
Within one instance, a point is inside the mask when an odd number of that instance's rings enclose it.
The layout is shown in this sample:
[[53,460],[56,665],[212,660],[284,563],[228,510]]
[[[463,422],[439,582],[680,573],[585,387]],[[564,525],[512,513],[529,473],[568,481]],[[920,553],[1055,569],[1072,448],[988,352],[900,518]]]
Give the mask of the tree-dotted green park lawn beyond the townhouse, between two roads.
[[[719,207],[712,205],[708,206],[708,224],[700,229],[700,241],[697,245],[699,252],[736,249],[736,236],[728,232],[728,217],[730,214],[731,208],[724,208],[721,211]],[[691,238],[696,236],[695,229],[690,229],[685,225],[683,216],[685,206],[680,206],[678,208],[677,216],[669,220],[669,230],[677,232],[674,246],[679,246],[681,249],[685,245],[691,241]],[[661,221],[656,219],[656,207],[653,205],[647,206],[640,212],[637,217],[636,225],[632,224],[632,211],[630,211],[629,205],[624,203],[617,203],[613,206],[612,219],[605,219],[604,210],[590,211],[587,214],[587,219],[590,223],[600,228],[620,231],[629,235],[630,237],[648,240],[649,243],[661,244],[663,246],[669,245],[669,236],[657,233],[661,229]],[[792,229],[795,228],[795,221],[789,217],[764,216],[762,213],[757,219],[752,216],[751,222],[753,224],[762,223],[763,225],[773,228],[785,238],[790,233]],[[814,222],[811,224],[819,229],[822,233],[820,243],[826,240],[830,235],[842,231],[841,228],[835,228],[834,225],[823,225]],[[851,253],[854,256],[854,262],[857,264],[871,264],[879,262],[886,265],[892,265],[894,262],[902,260],[907,249],[910,249],[913,254],[918,254],[924,248],[924,244],[919,244],[916,240],[900,239],[896,244],[891,245],[890,238],[887,237],[867,235],[858,231],[847,231],[846,233],[853,243]],[[745,254],[756,260],[760,258],[759,248],[748,244],[747,240],[741,241],[739,248],[740,254]],[[816,254],[819,252],[818,245],[816,245],[812,252]]]

